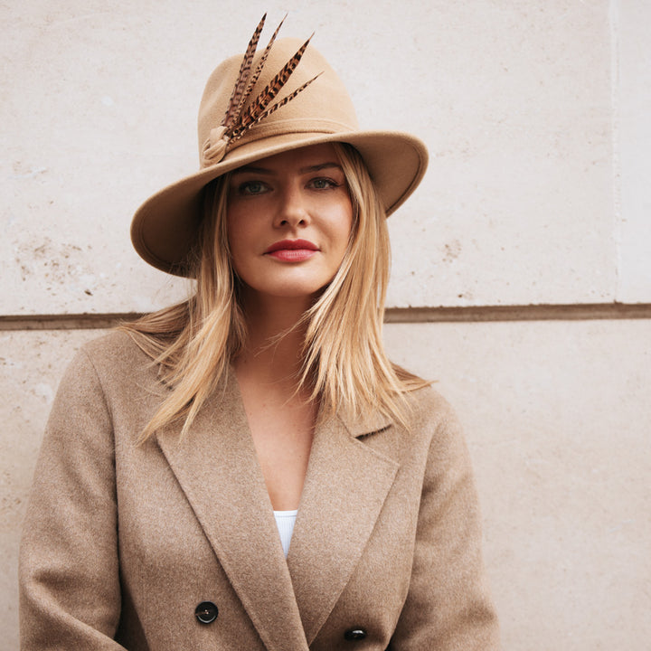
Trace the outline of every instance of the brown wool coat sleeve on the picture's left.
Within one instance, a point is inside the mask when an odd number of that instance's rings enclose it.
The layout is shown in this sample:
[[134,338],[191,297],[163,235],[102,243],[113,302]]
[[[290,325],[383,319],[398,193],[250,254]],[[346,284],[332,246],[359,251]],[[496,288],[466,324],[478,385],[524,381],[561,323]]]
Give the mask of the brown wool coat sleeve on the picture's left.
[[111,418],[89,357],[63,376],[21,542],[21,649],[123,649]]

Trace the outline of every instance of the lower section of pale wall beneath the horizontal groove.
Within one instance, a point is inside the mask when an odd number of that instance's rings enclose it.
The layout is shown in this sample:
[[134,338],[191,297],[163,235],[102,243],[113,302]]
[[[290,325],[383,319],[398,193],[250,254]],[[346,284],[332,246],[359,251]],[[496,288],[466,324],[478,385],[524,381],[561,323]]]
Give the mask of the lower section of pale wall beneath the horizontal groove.
[[[0,629],[33,464],[74,349],[98,331],[0,334]],[[387,325],[392,358],[458,410],[508,651],[643,649],[651,637],[646,321]]]

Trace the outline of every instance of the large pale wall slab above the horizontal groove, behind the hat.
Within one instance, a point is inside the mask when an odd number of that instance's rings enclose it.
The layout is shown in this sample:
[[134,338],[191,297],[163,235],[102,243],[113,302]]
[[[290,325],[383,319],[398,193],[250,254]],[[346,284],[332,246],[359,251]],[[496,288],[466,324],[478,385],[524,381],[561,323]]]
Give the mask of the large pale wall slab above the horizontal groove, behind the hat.
[[203,83],[264,11],[289,12],[286,35],[316,31],[364,127],[429,146],[390,222],[391,305],[615,298],[607,0],[48,0],[0,6],[0,314],[181,295],[131,251],[130,218],[196,169]]

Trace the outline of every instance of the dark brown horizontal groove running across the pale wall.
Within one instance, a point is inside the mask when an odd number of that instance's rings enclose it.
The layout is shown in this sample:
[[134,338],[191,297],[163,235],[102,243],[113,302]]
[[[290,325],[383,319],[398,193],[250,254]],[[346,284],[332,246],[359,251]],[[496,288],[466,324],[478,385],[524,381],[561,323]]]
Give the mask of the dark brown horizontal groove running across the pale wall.
[[[132,321],[136,312],[67,315],[0,316],[0,330],[103,329]],[[384,321],[410,323],[482,323],[492,321],[588,321],[651,318],[651,303],[594,303],[571,305],[390,307]]]

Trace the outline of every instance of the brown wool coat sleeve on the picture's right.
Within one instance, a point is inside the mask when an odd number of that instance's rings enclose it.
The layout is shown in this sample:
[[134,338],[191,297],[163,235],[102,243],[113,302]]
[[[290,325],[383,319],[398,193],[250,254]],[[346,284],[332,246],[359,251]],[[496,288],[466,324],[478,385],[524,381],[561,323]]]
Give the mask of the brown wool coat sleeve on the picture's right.
[[429,446],[410,589],[392,651],[499,648],[480,520],[466,442],[450,410]]

